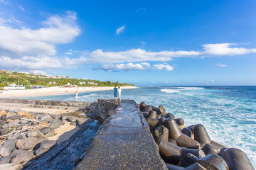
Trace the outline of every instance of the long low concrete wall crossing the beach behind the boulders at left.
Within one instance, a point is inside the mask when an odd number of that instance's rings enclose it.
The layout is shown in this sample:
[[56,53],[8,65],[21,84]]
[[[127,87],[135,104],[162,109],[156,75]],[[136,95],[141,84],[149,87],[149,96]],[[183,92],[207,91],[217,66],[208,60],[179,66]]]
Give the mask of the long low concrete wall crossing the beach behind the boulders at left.
[[90,102],[75,102],[75,101],[46,101],[20,98],[0,98],[1,103],[21,103],[31,106],[62,106],[70,108],[85,108],[90,106]]

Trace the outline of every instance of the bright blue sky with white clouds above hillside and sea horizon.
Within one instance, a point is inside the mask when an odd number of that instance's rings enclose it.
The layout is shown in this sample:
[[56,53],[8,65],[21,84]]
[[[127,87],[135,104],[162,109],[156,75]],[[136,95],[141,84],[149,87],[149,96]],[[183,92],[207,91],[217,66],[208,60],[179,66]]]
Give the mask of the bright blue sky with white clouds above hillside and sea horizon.
[[256,1],[0,0],[0,68],[144,85],[256,85]]

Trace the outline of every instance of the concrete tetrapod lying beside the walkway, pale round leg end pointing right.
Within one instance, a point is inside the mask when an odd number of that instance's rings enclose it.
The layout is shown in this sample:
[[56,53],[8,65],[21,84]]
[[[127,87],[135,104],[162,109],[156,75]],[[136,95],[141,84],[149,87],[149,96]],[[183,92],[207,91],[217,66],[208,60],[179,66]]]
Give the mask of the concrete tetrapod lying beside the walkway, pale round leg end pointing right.
[[166,157],[166,161],[171,164],[178,164],[181,160],[181,157],[185,154],[191,153],[198,157],[204,157],[205,154],[203,151],[199,149],[188,149],[184,147],[178,147],[171,142],[166,142],[165,140],[161,140],[161,138],[156,140],[156,144],[159,145],[159,152]]

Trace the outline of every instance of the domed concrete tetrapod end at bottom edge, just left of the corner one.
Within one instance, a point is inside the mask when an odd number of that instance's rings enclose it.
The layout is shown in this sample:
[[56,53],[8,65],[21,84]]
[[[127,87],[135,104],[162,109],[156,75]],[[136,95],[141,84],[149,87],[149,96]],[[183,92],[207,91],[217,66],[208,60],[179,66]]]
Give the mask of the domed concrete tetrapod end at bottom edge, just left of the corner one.
[[199,159],[198,163],[206,169],[228,170],[228,164],[217,154],[208,154],[206,157]]

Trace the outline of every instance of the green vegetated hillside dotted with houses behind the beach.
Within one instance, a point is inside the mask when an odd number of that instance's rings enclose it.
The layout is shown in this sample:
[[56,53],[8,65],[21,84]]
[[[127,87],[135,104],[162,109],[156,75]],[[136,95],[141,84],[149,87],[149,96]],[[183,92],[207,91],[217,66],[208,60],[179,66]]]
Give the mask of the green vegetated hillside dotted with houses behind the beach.
[[0,70],[0,86],[8,86],[9,84],[16,83],[26,86],[63,86],[68,84],[77,86],[134,86],[134,84],[122,83],[111,81],[98,81],[91,79],[69,79],[69,78],[57,78],[47,77],[45,75],[26,74],[20,72],[9,72],[6,70]]

